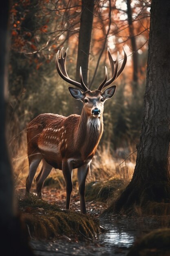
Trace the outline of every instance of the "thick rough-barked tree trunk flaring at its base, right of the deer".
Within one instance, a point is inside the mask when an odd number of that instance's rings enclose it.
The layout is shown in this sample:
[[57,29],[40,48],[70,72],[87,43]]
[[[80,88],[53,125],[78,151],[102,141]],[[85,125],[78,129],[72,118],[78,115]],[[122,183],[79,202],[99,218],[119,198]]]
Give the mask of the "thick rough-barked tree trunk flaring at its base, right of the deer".
[[144,110],[130,184],[115,210],[148,201],[170,202],[170,1],[152,0]]

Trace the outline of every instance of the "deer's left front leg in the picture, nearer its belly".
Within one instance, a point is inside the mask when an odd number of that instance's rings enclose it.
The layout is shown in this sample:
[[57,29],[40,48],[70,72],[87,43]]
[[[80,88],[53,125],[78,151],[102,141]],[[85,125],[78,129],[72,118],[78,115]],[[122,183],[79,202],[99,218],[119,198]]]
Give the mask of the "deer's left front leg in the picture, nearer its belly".
[[64,180],[66,182],[66,209],[70,209],[71,193],[73,190],[72,164],[68,163],[66,160],[63,160],[62,161],[62,172],[64,175]]

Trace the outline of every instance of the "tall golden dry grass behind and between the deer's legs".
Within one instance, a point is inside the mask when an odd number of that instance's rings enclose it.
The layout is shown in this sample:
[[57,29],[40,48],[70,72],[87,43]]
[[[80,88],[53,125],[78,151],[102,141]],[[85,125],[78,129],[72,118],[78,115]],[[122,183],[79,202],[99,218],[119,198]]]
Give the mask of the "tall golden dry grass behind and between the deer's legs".
[[[17,144],[17,142],[15,141]],[[13,165],[13,173],[14,173],[14,182],[15,188],[24,189],[26,183],[26,177],[29,173],[29,163],[27,157],[27,147],[26,147],[26,134],[22,135],[22,143],[20,144],[20,148],[14,147],[12,157],[12,165]],[[122,154],[122,148],[120,149]],[[126,149],[125,149],[126,150]],[[128,148],[130,153],[133,152],[132,148]],[[15,155],[14,155],[15,152]],[[105,146],[99,147],[95,157],[93,158],[91,164],[91,171],[88,174],[86,184],[99,181],[101,184],[106,187],[106,182],[112,179],[119,179],[122,181],[123,186],[126,186],[131,178],[135,167],[135,154],[132,154],[126,161],[123,158],[120,158],[119,151],[116,152],[111,150],[110,148],[106,148]],[[130,155],[130,154],[129,154]],[[126,157],[128,155],[126,154]],[[35,178],[33,180],[32,189],[35,189],[35,179],[41,169],[41,163],[38,167],[38,170],[35,174]],[[77,170],[73,170],[73,186],[74,188],[78,188],[77,184]],[[49,177],[45,180],[44,185],[54,186],[57,189],[65,190],[65,182],[64,177],[62,175],[61,170],[52,169]],[[110,185],[109,185],[110,186]]]

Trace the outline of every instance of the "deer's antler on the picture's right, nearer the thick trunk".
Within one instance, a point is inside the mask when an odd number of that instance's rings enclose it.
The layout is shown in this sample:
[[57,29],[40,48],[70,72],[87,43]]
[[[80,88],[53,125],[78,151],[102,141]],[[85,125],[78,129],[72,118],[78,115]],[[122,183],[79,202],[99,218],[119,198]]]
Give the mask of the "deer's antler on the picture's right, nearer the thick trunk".
[[114,61],[112,58],[112,55],[110,53],[110,50],[108,48],[108,58],[110,61],[110,67],[111,67],[111,78],[109,80],[107,80],[107,68],[105,67],[105,78],[104,81],[101,83],[101,85],[99,85],[99,88],[97,90],[102,91],[103,88],[105,88],[106,86],[110,85],[111,83],[113,83],[113,81],[115,81],[117,79],[117,77],[121,74],[121,72],[124,70],[124,67],[126,65],[126,61],[127,61],[127,54],[126,51],[123,47],[124,50],[124,61],[120,67],[120,69],[118,70],[118,65],[119,65],[119,52],[117,52],[117,58]]

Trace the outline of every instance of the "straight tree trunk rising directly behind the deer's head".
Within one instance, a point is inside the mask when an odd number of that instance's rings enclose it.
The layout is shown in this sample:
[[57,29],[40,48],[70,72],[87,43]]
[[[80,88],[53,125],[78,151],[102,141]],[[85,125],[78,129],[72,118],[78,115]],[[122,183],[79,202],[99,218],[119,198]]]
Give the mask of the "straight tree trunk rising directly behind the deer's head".
[[[88,85],[88,65],[93,27],[94,0],[82,0],[82,14],[80,18],[79,43],[77,53],[76,81],[79,81],[79,68],[82,67],[83,80]],[[82,103],[76,101],[75,112],[82,112]]]

